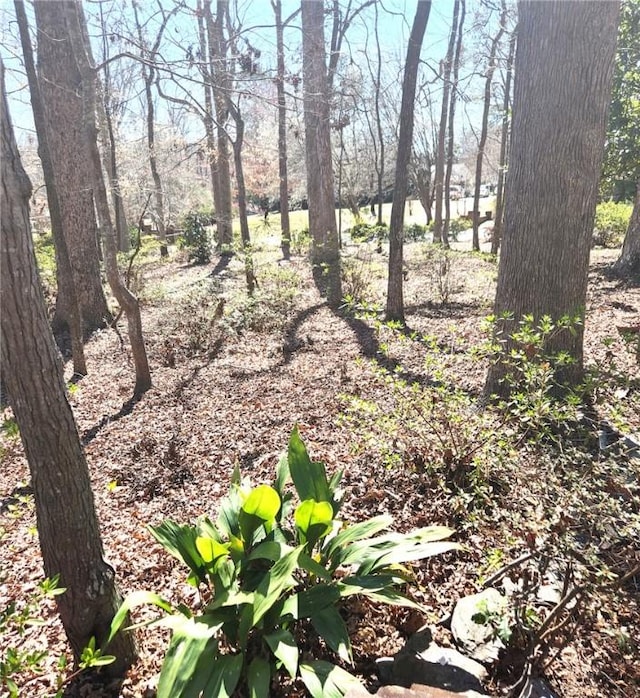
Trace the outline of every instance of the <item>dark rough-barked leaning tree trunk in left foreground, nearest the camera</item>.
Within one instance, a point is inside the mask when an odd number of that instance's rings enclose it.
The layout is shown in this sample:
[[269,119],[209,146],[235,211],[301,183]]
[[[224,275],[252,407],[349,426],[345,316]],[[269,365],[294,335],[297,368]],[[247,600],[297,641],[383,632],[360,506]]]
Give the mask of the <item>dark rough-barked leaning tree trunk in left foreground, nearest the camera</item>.
[[[89,470],[67,400],[62,362],[36,270],[29,224],[31,184],[16,147],[0,61],[0,326],[3,378],[29,463],[45,574],[66,588],[58,610],[76,660],[92,638],[100,646],[120,606],[104,560]],[[135,660],[131,634],[118,635],[109,673]]]

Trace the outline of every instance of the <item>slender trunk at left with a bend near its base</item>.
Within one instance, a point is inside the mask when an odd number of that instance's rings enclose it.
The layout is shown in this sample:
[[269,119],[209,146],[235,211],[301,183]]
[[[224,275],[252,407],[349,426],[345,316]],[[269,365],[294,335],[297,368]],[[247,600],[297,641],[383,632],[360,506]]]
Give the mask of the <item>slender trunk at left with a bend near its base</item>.
[[147,359],[147,350],[142,335],[142,319],[138,299],[125,286],[118,269],[118,245],[115,231],[111,223],[109,200],[102,176],[102,162],[98,151],[96,129],[96,81],[97,76],[92,66],[91,46],[87,35],[86,21],[82,6],[71,3],[66,8],[66,21],[69,31],[70,45],[74,51],[77,70],[81,76],[81,89],[84,104],[83,126],[87,150],[91,157],[91,186],[93,201],[98,213],[98,220],[104,240],[104,262],[107,280],[111,291],[120,307],[127,316],[127,328],[131,355],[135,367],[136,382],[133,390],[134,398],[139,398],[151,388],[151,373]]

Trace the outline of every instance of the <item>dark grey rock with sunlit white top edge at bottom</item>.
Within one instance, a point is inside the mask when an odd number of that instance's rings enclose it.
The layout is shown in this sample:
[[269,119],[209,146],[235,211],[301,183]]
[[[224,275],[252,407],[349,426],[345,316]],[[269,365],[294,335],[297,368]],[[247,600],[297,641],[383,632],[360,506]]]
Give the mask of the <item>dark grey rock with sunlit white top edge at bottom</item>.
[[439,647],[435,642],[419,654],[402,650],[393,665],[394,683],[437,686],[447,691],[482,691],[486,669],[457,650]]

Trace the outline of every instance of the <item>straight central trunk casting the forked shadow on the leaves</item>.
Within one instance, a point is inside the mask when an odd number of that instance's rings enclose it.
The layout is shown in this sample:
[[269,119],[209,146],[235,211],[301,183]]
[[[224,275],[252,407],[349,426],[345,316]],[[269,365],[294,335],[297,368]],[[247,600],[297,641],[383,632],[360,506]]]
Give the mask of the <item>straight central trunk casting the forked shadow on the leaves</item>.
[[330,306],[342,301],[340,240],[333,196],[329,93],[324,46],[324,8],[302,0],[302,74],[311,263],[318,288]]

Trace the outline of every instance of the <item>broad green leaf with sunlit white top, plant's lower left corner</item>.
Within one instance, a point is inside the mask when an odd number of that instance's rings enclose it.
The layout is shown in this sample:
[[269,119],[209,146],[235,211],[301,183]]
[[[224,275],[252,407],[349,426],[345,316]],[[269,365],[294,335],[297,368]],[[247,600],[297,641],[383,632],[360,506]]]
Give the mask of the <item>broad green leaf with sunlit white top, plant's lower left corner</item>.
[[[176,628],[162,664],[158,698],[198,698],[218,665],[219,624],[190,619]],[[218,694],[216,694],[218,695]]]

